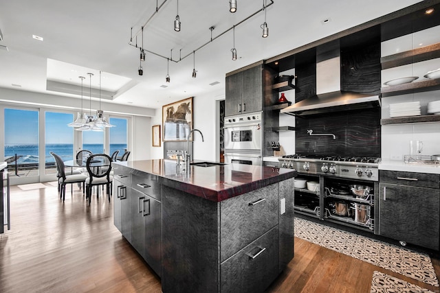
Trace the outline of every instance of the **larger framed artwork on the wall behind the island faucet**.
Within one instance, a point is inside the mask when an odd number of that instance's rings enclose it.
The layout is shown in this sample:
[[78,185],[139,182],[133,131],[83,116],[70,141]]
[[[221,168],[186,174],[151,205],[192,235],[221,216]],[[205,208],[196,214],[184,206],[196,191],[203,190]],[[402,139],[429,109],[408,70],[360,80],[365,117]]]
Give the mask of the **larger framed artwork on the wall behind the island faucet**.
[[192,97],[162,106],[164,141],[186,141],[192,130]]

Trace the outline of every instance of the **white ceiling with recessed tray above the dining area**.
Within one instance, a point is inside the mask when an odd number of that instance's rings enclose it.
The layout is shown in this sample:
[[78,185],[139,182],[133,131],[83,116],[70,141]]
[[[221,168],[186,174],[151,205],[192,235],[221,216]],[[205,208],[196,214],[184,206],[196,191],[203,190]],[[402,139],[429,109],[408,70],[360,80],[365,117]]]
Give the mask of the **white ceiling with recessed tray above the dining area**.
[[[177,1],[165,1],[0,0],[0,45],[8,47],[0,48],[0,87],[79,98],[78,76],[83,75],[88,97],[87,73],[94,73],[91,84],[98,89],[102,71],[102,97],[110,99],[107,102],[160,108],[186,97],[218,94],[224,91],[225,73],[420,2],[274,0],[267,8],[268,38],[261,37],[264,12],[235,27],[239,59],[234,61],[232,30],[219,35],[261,10],[263,1],[237,0],[234,14],[228,0],[179,1],[180,32],[173,30]],[[155,13],[157,2],[164,4]],[[165,57],[173,49],[178,62],[169,63],[170,83],[165,82],[166,58],[155,54],[146,53],[144,75],[138,75],[140,49],[129,45],[131,27],[134,36],[153,14],[144,27],[144,48]],[[325,19],[330,21],[322,24]],[[209,27],[214,27],[212,42]],[[197,78],[191,78],[192,51],[206,43],[195,52]],[[212,82],[219,84],[211,86]],[[55,89],[54,84],[63,89],[47,91],[47,85]]]

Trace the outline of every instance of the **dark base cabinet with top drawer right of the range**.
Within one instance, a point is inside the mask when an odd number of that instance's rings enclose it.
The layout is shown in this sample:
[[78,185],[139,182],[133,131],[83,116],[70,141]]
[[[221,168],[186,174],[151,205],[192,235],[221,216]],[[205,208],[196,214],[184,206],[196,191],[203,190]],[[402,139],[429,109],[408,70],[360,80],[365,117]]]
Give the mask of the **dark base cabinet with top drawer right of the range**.
[[439,250],[439,174],[380,171],[379,234]]

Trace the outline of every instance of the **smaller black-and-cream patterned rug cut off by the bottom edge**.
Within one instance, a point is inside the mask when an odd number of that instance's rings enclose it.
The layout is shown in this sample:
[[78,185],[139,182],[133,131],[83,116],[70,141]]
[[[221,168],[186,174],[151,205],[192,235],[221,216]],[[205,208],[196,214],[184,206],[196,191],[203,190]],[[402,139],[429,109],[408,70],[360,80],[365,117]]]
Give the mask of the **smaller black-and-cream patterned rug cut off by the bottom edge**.
[[395,292],[408,292],[408,293],[434,293],[431,290],[421,288],[420,286],[408,283],[404,280],[392,277],[389,274],[383,272],[373,272],[373,279],[371,280],[370,293],[395,293]]

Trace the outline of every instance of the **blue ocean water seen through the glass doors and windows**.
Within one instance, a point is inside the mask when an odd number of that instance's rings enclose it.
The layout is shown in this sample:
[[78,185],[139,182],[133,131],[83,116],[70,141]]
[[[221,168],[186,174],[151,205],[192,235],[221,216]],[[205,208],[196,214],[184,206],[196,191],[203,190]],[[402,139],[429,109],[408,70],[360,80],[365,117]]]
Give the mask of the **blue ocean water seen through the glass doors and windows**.
[[[126,143],[111,143],[109,155],[113,154],[115,150],[119,150],[119,155],[122,156],[126,150]],[[100,154],[104,150],[102,143],[84,144],[83,150],[89,150],[94,154]],[[73,144],[47,144],[45,150],[45,163],[54,163],[54,158],[50,155],[54,152],[63,158],[63,161],[74,159],[74,145]],[[32,164],[39,163],[39,145],[38,144],[23,144],[23,145],[5,145],[5,160],[14,157],[17,154],[19,159],[17,164]]]

